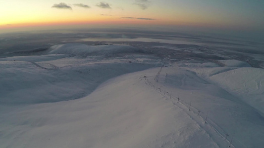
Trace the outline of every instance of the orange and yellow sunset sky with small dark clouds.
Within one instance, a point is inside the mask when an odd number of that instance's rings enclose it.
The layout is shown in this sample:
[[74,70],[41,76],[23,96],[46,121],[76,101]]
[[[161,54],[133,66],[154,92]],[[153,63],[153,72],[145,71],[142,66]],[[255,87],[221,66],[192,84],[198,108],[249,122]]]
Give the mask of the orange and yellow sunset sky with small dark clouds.
[[0,33],[89,25],[263,31],[264,0],[0,0]]

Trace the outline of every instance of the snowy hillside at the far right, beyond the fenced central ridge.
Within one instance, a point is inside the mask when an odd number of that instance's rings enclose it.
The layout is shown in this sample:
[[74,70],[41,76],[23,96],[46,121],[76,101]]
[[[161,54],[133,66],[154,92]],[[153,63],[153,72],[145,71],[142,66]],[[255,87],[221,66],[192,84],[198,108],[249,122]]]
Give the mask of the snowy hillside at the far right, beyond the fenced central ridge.
[[187,69],[197,73],[209,83],[218,85],[228,93],[231,93],[237,98],[235,99],[236,101],[249,104],[260,111],[261,114],[264,114],[263,69],[244,67],[241,65],[236,65],[237,67],[225,66],[211,68],[201,66],[202,64],[196,64],[195,66],[187,67]]

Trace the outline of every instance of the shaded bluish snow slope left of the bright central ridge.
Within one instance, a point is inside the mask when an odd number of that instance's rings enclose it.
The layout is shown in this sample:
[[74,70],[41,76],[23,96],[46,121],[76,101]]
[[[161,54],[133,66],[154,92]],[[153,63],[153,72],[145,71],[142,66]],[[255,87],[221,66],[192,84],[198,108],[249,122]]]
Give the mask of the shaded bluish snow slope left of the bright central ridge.
[[78,99],[111,77],[151,67],[146,64],[118,63],[116,60],[101,64],[75,63],[63,68],[56,65],[51,62],[0,62],[0,103],[28,104]]

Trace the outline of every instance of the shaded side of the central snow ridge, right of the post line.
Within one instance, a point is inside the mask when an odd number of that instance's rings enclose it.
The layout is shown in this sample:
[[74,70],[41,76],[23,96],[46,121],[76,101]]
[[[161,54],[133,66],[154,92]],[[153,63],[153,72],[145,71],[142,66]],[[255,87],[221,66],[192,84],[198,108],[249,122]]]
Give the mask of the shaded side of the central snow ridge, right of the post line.
[[[147,78],[146,84],[164,95],[166,99],[171,100],[175,105],[178,105],[177,98],[179,97],[179,103],[184,105],[185,111],[194,113],[192,117],[199,119],[202,126],[208,115],[209,129],[217,133],[210,133],[210,135],[214,141],[218,142],[220,148],[226,147],[224,145],[226,134],[229,135],[227,141],[229,143],[232,141],[232,144],[239,148],[247,148],[248,146],[254,148],[263,143],[260,137],[263,137],[264,133],[258,130],[264,128],[262,126],[263,117],[258,111],[245,105],[239,101],[239,98],[222,88],[202,80],[184,68],[162,68],[158,83],[154,81],[154,76],[151,78],[147,76]],[[199,111],[201,112],[199,113]],[[199,117],[202,117],[202,121],[201,118],[197,118],[198,114]],[[208,127],[205,126],[204,128]]]

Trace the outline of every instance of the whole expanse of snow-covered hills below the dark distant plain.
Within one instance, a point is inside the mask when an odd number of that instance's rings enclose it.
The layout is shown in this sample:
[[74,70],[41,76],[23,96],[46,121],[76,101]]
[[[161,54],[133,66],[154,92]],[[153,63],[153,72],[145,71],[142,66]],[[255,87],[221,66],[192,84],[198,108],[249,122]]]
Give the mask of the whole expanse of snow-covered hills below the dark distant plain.
[[83,44],[1,58],[0,147],[263,147],[263,69],[171,61]]

